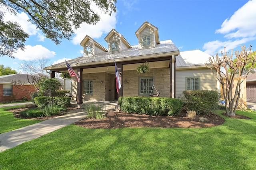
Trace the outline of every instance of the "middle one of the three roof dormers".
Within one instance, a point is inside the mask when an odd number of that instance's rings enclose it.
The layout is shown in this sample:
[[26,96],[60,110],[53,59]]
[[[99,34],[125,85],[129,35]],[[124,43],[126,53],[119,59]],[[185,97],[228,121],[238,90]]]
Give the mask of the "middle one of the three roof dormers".
[[112,29],[108,33],[108,35],[105,37],[105,41],[108,42],[108,54],[120,53],[125,49],[132,48],[124,36],[118,33],[115,29]]

